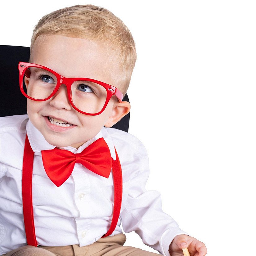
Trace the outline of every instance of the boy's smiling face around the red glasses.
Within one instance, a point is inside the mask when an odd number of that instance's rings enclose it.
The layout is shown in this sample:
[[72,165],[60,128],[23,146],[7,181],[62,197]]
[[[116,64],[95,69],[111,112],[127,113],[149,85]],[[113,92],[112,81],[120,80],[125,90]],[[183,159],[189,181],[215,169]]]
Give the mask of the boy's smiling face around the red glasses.
[[[41,35],[34,43],[30,62],[46,66],[64,77],[92,78],[114,85],[107,55],[106,49],[86,39]],[[122,103],[112,97],[102,114],[84,115],[70,105],[67,88],[61,85],[56,94],[47,101],[28,99],[27,112],[32,124],[43,134],[48,143],[58,147],[78,148],[97,135],[104,125],[110,127],[118,121],[115,118]],[[123,109],[122,114],[125,111],[127,114],[129,108]],[[62,128],[51,124],[48,117],[73,125]]]

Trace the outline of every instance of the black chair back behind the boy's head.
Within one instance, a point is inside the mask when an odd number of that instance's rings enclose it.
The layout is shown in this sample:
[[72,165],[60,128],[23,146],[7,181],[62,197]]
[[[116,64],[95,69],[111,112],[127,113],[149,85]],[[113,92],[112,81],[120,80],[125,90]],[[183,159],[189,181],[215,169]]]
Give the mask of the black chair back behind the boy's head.
[[[19,87],[19,61],[29,62],[30,48],[24,46],[0,45],[1,66],[1,101],[0,116],[27,114],[27,98],[22,95]],[[127,94],[124,101],[128,101]],[[128,132],[130,113],[124,116],[113,128]]]

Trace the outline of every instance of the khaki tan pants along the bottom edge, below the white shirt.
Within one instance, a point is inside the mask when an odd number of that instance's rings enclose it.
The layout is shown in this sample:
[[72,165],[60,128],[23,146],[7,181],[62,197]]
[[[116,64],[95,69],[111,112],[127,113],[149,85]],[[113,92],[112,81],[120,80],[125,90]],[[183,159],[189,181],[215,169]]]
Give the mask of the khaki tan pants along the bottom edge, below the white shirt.
[[6,256],[156,256],[159,254],[143,251],[131,246],[123,246],[126,241],[124,234],[100,238],[97,242],[80,247],[26,245],[5,254]]

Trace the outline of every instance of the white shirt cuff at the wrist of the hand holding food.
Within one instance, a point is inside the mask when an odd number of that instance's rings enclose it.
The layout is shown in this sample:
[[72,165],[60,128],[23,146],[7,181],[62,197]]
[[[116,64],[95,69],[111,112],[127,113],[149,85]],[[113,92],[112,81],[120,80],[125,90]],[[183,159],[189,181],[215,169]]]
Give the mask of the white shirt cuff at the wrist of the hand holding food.
[[175,236],[182,235],[182,234],[188,235],[186,232],[182,231],[178,227],[170,228],[170,229],[167,229],[166,231],[164,231],[164,233],[161,236],[160,241],[159,241],[160,248],[161,248],[162,254],[164,256],[170,256],[169,247],[170,247],[172,240],[174,239]]

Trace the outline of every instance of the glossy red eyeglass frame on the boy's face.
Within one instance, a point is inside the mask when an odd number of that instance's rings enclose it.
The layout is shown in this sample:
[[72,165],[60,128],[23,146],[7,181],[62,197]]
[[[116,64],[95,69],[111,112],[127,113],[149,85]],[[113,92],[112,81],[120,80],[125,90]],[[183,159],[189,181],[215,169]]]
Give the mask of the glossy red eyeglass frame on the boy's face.
[[[35,98],[32,98],[30,96],[28,96],[24,89],[23,89],[23,78],[24,78],[24,75],[26,76],[25,74],[25,71],[27,70],[27,68],[29,67],[35,67],[35,68],[41,68],[41,69],[44,69],[44,70],[47,70],[49,72],[51,72],[52,74],[54,74],[57,78],[57,83],[56,83],[56,86],[54,88],[54,90],[52,91],[52,93],[47,97],[47,98],[44,98],[44,99],[35,99]],[[108,105],[109,101],[110,101],[110,98],[115,95],[119,102],[121,103],[122,100],[123,100],[123,93],[120,92],[115,86],[112,86],[110,84],[107,84],[107,83],[104,83],[104,82],[101,82],[101,81],[98,81],[98,80],[95,80],[95,79],[91,79],[91,78],[67,78],[67,77],[64,77],[64,76],[61,76],[60,74],[56,73],[55,71],[45,67],[45,66],[42,66],[42,65],[38,65],[38,64],[34,64],[34,63],[29,63],[29,62],[19,62],[18,64],[18,70],[19,70],[19,74],[20,74],[20,91],[22,92],[22,94],[30,99],[30,100],[33,100],[33,101],[47,101],[49,100],[50,98],[52,98],[55,93],[58,91],[58,89],[60,88],[60,86],[62,84],[65,84],[65,86],[67,87],[67,92],[68,92],[68,98],[69,98],[69,102],[71,104],[71,106],[77,110],[78,112],[84,114],[84,115],[100,115],[105,109],[106,109],[106,106]],[[27,77],[27,76],[26,76]],[[103,106],[103,108],[101,109],[101,111],[95,113],[95,114],[92,114],[92,113],[87,113],[87,112],[83,112],[82,110],[79,110],[73,103],[72,101],[72,94],[71,94],[71,85],[76,82],[76,81],[80,81],[80,80],[84,80],[84,81],[88,81],[88,82],[93,82],[93,83],[97,83],[101,86],[103,86],[106,91],[107,91],[107,97],[106,97],[106,101],[105,101],[105,104]]]

